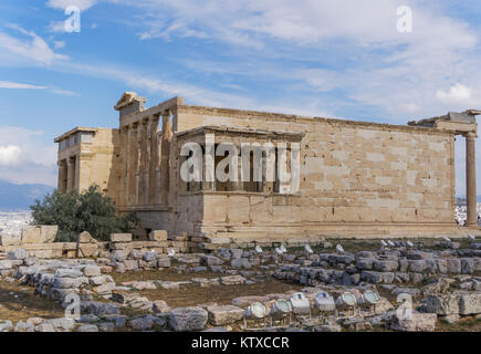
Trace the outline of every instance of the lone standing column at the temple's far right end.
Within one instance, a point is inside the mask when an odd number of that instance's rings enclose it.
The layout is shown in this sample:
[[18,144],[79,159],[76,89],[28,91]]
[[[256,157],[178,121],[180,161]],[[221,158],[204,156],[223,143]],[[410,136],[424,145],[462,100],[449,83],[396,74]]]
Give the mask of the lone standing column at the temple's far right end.
[[466,226],[478,226],[475,190],[475,133],[466,134],[466,198],[468,219]]

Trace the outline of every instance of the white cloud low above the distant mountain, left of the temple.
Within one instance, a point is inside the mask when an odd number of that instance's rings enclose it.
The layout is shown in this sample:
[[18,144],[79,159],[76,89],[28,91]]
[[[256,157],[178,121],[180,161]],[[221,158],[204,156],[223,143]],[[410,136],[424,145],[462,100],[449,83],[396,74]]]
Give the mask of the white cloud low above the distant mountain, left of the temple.
[[56,184],[56,148],[44,133],[0,126],[0,179],[15,184]]

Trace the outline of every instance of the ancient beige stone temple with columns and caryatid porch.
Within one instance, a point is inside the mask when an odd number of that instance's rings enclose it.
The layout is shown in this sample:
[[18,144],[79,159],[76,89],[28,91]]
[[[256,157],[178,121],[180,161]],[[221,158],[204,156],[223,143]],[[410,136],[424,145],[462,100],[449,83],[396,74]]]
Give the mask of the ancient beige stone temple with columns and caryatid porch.
[[[95,183],[146,231],[219,242],[480,232],[478,111],[401,126],[194,106],[181,97],[144,104],[127,92],[115,106],[118,128],[76,127],[55,139],[61,191]],[[457,135],[467,142],[467,227],[453,217]],[[200,146],[200,179],[181,177],[189,144]],[[273,146],[273,154],[245,158],[244,146]],[[223,156],[232,152],[239,156],[226,168]],[[247,165],[248,177],[255,175],[255,164],[263,166],[260,180],[240,178]],[[218,169],[233,178],[212,179]]]

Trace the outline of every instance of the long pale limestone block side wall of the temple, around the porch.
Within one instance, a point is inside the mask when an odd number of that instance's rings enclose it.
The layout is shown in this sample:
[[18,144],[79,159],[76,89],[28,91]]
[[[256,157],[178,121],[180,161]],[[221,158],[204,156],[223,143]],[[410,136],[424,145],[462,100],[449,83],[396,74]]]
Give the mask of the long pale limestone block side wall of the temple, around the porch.
[[[338,226],[453,226],[453,135],[427,128],[180,106],[178,128],[302,132],[299,196],[203,192],[202,230],[315,233]],[[356,228],[354,228],[356,229]],[[353,231],[353,228],[351,228]],[[328,230],[332,232],[332,230]]]

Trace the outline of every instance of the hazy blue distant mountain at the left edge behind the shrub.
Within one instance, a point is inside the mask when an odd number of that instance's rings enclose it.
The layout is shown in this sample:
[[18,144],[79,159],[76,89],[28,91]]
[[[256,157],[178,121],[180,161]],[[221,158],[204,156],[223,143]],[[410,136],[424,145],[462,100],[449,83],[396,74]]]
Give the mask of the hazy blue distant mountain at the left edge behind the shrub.
[[53,191],[54,187],[45,185],[15,185],[0,180],[0,210],[24,210],[42,197]]

